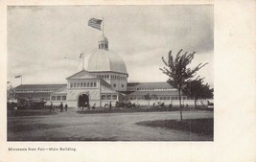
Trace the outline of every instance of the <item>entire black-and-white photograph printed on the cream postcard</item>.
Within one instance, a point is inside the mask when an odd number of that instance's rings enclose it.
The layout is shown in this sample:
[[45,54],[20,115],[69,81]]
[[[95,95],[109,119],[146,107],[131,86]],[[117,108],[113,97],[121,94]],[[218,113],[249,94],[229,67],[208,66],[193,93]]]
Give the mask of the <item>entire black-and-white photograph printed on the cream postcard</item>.
[[8,141],[214,141],[214,6],[8,6]]

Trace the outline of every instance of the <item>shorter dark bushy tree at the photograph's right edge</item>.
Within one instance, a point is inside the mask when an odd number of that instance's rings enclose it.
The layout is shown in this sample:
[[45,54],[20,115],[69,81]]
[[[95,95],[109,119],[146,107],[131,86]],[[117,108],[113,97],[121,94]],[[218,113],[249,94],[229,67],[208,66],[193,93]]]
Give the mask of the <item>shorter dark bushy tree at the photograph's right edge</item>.
[[186,87],[182,92],[194,99],[196,108],[198,107],[198,99],[213,98],[213,88],[210,88],[208,83],[203,84],[203,79],[199,79],[199,77],[196,80],[186,81]]

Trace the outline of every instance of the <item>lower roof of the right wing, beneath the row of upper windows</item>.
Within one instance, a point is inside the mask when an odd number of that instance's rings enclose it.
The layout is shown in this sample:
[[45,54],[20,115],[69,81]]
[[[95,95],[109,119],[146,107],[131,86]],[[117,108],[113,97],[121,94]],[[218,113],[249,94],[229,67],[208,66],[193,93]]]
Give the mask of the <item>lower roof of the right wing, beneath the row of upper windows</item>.
[[130,93],[128,96],[145,96],[147,94],[156,95],[156,96],[177,96],[177,90],[169,90],[169,91],[136,91]]

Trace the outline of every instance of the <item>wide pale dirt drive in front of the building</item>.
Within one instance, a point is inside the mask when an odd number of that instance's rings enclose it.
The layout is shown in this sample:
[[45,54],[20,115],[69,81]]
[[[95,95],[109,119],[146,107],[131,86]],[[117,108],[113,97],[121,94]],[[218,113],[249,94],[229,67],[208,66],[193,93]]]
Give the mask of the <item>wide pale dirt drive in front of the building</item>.
[[[184,111],[184,119],[213,118],[212,111]],[[68,109],[58,115],[14,117],[9,120],[29,130],[8,133],[18,141],[204,141],[211,137],[172,129],[142,127],[140,121],[179,119],[179,112],[79,114]]]

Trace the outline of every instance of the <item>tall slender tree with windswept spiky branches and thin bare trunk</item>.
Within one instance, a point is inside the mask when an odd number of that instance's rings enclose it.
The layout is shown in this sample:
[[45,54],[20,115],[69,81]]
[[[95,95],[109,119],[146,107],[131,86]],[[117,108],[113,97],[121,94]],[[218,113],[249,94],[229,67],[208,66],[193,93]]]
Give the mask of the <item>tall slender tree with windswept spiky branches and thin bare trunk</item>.
[[[186,81],[195,77],[198,70],[205,66],[207,63],[199,63],[198,66],[191,69],[187,67],[193,60],[196,52],[192,54],[180,55],[183,50],[181,49],[174,58],[172,56],[172,50],[169,52],[168,61],[162,57],[164,64],[167,67],[160,68],[160,70],[169,77],[168,81],[172,86],[178,90],[178,100],[179,100],[179,112],[180,120],[182,121],[182,106],[181,106],[181,91],[186,86]],[[188,54],[188,55],[187,55]]]

